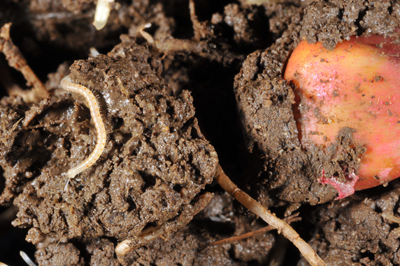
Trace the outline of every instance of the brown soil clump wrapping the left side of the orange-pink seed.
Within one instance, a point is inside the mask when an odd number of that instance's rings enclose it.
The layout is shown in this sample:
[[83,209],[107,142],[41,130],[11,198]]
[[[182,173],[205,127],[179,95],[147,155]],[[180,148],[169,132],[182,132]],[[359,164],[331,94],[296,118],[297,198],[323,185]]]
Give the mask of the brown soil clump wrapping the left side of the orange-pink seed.
[[299,103],[282,73],[290,51],[301,39],[320,41],[333,49],[337,42],[353,35],[398,37],[398,15],[389,12],[397,10],[398,5],[393,1],[375,3],[314,2],[304,9],[301,21],[292,21],[274,45],[250,54],[245,60],[235,78],[235,94],[248,148],[265,158],[265,170],[260,172],[265,186],[257,190],[266,190],[290,202],[324,203],[332,200],[336,191],[318,183],[323,170],[327,176],[340,176],[343,169],[357,169],[363,148],[354,145],[351,129],[343,129],[336,143],[326,150],[305,150],[301,146],[293,116],[293,108]]

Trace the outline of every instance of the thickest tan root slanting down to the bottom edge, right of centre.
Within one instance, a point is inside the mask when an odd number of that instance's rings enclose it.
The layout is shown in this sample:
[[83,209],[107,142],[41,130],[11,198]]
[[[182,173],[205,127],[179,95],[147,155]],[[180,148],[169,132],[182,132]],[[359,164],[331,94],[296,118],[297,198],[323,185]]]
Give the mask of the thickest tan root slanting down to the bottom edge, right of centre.
[[216,177],[217,182],[220,186],[228,192],[230,195],[235,192],[235,199],[237,199],[243,206],[248,210],[258,215],[270,226],[278,230],[278,233],[282,233],[289,241],[291,241],[304,256],[304,258],[312,266],[325,266],[325,262],[318,256],[318,254],[307,244],[299,234],[286,222],[282,221],[264,206],[250,197],[248,194],[240,190],[227,175],[225,175],[221,166],[218,166],[218,174]]

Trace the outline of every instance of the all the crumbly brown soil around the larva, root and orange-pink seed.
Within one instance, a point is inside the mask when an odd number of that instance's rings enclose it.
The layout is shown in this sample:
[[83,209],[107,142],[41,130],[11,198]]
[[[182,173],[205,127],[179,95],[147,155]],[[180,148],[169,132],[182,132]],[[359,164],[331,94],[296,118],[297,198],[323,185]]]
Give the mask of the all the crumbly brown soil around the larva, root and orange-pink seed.
[[[351,129],[329,152],[302,149],[282,78],[303,39],[399,38],[400,3],[116,0],[97,31],[96,2],[0,3],[0,26],[12,22],[0,45],[12,40],[48,91],[32,97],[18,55],[0,55],[1,262],[24,265],[22,250],[38,265],[308,265],[277,232],[236,237],[266,225],[215,183],[220,164],[277,216],[297,212],[328,265],[400,264],[399,181],[335,201],[321,169],[343,178],[364,150]],[[107,132],[73,179],[97,133],[66,75]]]

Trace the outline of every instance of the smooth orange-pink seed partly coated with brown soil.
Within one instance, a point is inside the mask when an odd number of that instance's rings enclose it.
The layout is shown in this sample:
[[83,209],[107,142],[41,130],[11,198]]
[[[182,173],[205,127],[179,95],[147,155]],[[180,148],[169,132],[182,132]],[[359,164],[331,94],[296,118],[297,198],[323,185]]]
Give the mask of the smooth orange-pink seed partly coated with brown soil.
[[382,36],[352,37],[328,51],[321,43],[302,41],[284,78],[306,107],[295,113],[305,149],[328,147],[349,127],[357,145],[366,148],[352,184],[356,190],[400,176],[399,44]]

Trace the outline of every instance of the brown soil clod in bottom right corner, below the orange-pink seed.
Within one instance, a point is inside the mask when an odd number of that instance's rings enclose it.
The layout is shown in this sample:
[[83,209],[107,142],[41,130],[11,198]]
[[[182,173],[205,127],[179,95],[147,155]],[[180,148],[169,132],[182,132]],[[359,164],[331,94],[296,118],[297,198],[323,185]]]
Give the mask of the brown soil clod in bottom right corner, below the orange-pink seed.
[[399,182],[377,197],[362,194],[319,208],[310,241],[328,265],[398,265]]

